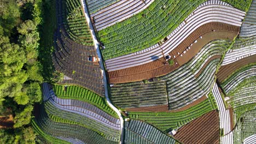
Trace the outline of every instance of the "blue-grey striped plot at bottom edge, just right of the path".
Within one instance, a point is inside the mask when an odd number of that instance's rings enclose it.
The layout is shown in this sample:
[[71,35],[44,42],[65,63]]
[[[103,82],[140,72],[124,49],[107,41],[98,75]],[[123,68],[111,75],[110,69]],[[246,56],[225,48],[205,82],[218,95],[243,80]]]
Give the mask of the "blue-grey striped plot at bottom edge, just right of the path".
[[131,119],[125,122],[124,143],[176,143],[176,141],[142,121]]

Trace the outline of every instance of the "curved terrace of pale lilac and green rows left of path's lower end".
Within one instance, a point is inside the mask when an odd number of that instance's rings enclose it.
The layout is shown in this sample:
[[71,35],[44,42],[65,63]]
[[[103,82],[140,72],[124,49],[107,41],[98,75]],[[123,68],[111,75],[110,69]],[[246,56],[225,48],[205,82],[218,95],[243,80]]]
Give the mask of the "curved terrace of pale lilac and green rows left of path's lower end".
[[[119,141],[120,121],[82,101],[57,98],[47,83],[43,85],[44,109],[56,122],[78,124],[96,131],[108,140]],[[72,102],[73,101],[73,102]]]

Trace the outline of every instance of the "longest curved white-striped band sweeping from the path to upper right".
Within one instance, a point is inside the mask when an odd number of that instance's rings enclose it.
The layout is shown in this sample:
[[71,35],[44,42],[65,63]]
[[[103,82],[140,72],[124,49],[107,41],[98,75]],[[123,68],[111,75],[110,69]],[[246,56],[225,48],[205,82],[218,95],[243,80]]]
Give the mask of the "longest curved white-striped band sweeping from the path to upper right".
[[[211,1],[212,2],[212,1]],[[159,46],[155,44],[147,49],[133,52],[128,55],[107,59],[108,71],[114,71],[137,65],[149,63],[166,56],[183,42],[193,31],[210,22],[222,22],[228,25],[240,27],[245,12],[227,5],[215,3],[202,3],[193,11],[174,31],[167,36],[167,41]],[[211,29],[212,30],[212,29]],[[171,57],[174,57],[173,55]],[[176,55],[177,57],[177,55]]]

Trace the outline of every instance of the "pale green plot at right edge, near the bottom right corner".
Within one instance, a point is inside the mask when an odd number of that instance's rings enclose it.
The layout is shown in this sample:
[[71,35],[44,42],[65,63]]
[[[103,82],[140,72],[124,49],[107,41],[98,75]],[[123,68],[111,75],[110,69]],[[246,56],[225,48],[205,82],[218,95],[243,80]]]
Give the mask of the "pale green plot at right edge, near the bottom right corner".
[[[256,110],[241,115],[234,129],[234,143],[242,143],[247,137],[256,134]],[[255,140],[255,136],[254,139]]]

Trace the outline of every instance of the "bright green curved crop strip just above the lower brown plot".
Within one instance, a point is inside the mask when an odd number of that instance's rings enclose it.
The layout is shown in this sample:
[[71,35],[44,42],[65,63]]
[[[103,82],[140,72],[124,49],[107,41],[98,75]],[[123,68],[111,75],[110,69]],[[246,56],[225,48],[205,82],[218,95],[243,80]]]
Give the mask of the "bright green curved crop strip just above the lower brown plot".
[[155,125],[162,131],[168,132],[212,110],[211,102],[207,99],[181,112],[129,112],[129,117],[141,119]]

